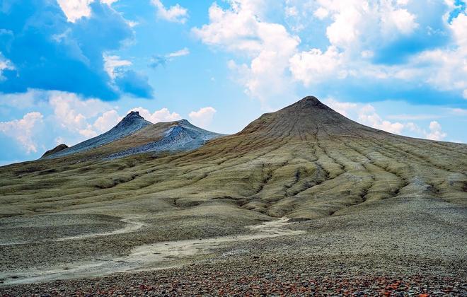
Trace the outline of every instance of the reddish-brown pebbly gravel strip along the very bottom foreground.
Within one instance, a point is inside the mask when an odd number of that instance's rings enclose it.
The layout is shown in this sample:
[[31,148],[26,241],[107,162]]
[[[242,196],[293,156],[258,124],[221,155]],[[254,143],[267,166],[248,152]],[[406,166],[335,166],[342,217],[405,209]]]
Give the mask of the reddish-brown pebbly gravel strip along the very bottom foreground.
[[[325,263],[322,263],[325,264]],[[253,256],[177,269],[0,288],[1,296],[467,296],[465,276],[352,276],[345,268]]]

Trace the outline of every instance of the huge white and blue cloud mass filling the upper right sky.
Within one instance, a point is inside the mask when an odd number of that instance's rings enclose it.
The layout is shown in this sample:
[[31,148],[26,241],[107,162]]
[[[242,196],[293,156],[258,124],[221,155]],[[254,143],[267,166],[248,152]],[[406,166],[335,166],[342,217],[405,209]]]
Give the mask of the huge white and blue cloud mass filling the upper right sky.
[[212,4],[209,23],[192,32],[204,44],[236,55],[228,61],[233,78],[263,106],[293,97],[297,83],[314,90],[340,86],[336,79],[356,91],[384,85],[391,92],[386,96],[398,96],[400,87],[418,91],[409,98],[414,101],[433,88],[438,95],[467,92],[460,50],[466,48],[466,14],[446,23],[442,1],[287,0],[287,27],[268,21],[264,1],[227,3]]

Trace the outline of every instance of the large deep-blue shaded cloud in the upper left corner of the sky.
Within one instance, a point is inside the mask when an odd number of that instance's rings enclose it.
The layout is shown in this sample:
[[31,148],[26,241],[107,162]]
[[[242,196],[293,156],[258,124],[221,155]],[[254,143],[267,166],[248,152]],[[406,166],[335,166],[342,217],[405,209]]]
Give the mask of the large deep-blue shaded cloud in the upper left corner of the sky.
[[0,52],[13,66],[1,70],[0,91],[4,93],[37,88],[113,100],[132,90],[137,91],[133,95],[140,95],[142,86],[151,88],[144,76],[132,73],[126,74],[131,79],[123,86],[113,81],[111,70],[118,65],[112,62],[117,60],[108,59],[106,64],[105,53],[131,40],[133,31],[108,4],[14,1],[0,10],[0,28]]

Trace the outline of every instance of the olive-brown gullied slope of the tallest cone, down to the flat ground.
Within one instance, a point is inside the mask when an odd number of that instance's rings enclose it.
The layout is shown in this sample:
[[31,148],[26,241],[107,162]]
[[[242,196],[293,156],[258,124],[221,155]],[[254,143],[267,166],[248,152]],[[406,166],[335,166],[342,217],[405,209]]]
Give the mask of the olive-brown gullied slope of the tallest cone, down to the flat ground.
[[188,153],[7,166],[0,169],[0,195],[4,216],[167,211],[217,202],[313,219],[386,199],[465,206],[467,145],[388,134],[307,97]]

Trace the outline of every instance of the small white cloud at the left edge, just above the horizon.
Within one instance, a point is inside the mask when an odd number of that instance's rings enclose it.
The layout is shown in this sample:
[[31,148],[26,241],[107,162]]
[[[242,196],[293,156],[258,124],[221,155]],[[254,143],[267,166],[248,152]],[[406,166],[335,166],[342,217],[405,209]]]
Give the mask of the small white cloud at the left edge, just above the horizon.
[[18,141],[26,153],[36,153],[38,144],[34,139],[34,132],[42,124],[42,118],[40,112],[28,112],[21,120],[0,122],[0,132]]

